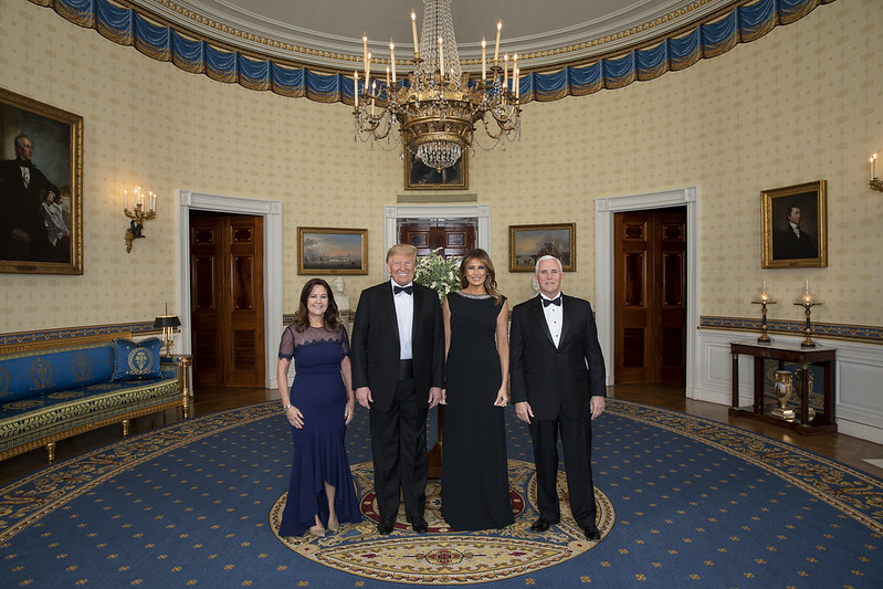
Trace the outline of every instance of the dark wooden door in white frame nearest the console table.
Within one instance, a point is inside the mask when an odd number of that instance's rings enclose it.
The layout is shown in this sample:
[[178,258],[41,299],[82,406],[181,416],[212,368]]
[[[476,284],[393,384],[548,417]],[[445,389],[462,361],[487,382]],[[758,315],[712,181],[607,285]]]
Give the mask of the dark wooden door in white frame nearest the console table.
[[686,381],[686,211],[614,217],[618,385]]

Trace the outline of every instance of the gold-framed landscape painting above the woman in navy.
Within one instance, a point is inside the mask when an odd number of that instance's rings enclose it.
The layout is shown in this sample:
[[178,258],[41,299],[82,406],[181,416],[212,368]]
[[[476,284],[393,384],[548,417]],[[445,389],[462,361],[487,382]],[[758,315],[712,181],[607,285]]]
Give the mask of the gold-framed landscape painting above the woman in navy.
[[368,230],[297,228],[298,274],[367,274]]

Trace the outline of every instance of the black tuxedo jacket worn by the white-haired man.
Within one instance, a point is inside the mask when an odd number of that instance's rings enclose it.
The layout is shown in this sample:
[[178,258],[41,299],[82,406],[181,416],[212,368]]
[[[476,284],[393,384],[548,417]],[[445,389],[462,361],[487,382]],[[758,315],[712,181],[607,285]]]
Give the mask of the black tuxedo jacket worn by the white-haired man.
[[561,295],[558,347],[537,295],[512,309],[512,402],[528,401],[536,419],[585,418],[592,396],[606,397],[605,360],[588,301]]

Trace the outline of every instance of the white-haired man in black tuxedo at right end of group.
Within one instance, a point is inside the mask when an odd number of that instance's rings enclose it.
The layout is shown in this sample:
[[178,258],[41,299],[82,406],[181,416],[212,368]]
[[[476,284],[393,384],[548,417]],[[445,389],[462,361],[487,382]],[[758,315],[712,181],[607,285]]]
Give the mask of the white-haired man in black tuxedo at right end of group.
[[512,309],[509,371],[515,414],[530,428],[537,471],[539,518],[546,532],[561,518],[556,482],[561,432],[570,511],[590,540],[595,523],[591,476],[591,420],[605,410],[605,360],[588,301],[561,294],[561,262],[537,261],[539,295]]

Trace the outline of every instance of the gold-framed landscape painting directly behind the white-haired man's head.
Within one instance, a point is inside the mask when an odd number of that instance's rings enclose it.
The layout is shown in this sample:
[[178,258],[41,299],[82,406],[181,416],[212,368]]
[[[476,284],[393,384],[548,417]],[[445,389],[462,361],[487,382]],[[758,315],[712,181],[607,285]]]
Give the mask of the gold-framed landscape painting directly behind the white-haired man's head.
[[509,272],[534,272],[536,261],[554,255],[565,272],[577,269],[577,224],[509,225]]

